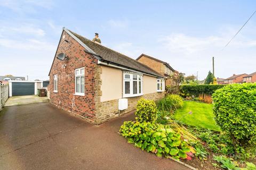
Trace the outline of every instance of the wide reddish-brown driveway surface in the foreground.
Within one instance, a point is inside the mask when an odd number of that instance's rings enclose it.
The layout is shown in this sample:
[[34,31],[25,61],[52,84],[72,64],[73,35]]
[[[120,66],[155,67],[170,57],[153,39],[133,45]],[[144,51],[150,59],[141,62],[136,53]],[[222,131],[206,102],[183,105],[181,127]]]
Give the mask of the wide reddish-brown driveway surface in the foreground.
[[100,126],[49,103],[4,107],[0,112],[0,169],[188,169],[157,158],[117,134],[133,114]]

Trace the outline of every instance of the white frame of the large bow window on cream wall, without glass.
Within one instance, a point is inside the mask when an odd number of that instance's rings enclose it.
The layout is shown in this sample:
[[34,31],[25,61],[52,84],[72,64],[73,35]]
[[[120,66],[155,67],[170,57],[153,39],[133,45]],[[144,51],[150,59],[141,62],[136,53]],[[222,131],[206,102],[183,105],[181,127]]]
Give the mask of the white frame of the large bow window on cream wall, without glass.
[[[130,75],[130,78],[125,78],[125,75]],[[133,80],[133,75],[137,76],[136,80]],[[140,79],[139,79],[140,78]],[[133,94],[133,81],[137,81],[137,94]],[[125,94],[125,82],[130,82],[130,94]],[[139,93],[139,82],[141,84],[141,91]],[[136,97],[143,95],[143,75],[133,72],[124,72],[123,73],[123,97]]]

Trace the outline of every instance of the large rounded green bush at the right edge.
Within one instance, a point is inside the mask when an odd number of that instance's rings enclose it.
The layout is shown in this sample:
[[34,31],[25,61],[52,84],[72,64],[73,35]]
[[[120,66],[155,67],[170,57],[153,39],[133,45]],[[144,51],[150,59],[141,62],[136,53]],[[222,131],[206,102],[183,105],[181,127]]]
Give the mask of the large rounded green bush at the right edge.
[[213,112],[233,145],[256,144],[256,83],[230,84],[215,91]]

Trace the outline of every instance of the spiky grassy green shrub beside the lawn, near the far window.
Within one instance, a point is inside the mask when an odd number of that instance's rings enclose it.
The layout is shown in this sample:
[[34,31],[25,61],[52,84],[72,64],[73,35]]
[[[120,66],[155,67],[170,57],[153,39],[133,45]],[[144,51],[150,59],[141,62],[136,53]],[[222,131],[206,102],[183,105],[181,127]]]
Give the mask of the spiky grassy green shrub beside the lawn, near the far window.
[[183,100],[179,95],[168,95],[161,100],[157,101],[157,108],[159,111],[172,111],[174,112],[178,108],[183,106]]

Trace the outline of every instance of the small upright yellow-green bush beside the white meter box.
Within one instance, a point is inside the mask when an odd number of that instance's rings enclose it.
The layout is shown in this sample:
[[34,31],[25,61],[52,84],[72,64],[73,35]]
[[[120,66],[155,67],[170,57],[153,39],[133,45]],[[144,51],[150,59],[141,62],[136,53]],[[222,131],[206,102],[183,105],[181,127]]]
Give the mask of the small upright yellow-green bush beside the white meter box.
[[135,115],[140,122],[155,122],[157,118],[155,101],[141,98],[137,103]]

